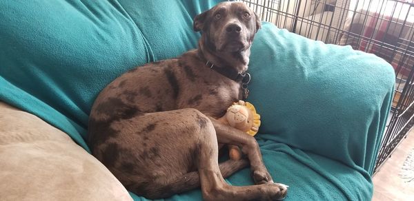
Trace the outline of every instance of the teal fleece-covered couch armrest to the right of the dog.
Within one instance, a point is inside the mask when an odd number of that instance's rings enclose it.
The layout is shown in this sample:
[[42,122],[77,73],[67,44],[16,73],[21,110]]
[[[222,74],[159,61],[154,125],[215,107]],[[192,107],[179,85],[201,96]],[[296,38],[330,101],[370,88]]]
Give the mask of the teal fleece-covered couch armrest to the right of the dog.
[[389,63],[269,23],[251,52],[249,101],[262,116],[257,136],[373,172],[393,97]]

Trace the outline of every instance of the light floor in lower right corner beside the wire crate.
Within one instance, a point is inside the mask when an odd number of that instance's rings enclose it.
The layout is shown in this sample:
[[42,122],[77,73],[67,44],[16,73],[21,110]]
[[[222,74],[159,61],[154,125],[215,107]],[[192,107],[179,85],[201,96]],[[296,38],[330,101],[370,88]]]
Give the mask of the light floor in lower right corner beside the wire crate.
[[408,153],[414,149],[414,129],[408,133],[401,144],[395,149],[391,158],[373,176],[373,201],[382,200],[414,200],[414,184],[406,184],[400,178],[401,167]]

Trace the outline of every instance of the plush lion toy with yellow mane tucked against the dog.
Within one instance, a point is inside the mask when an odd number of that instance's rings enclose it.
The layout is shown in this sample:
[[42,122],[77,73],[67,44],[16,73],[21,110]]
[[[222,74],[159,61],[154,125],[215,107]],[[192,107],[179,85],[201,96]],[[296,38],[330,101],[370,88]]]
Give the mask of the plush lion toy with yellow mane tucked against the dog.
[[[255,136],[260,126],[260,115],[256,113],[255,107],[243,100],[233,103],[228,107],[226,114],[219,118],[221,123],[230,125],[241,131],[245,131],[250,136]],[[233,160],[242,158],[242,151],[235,145],[228,145],[229,156]]]

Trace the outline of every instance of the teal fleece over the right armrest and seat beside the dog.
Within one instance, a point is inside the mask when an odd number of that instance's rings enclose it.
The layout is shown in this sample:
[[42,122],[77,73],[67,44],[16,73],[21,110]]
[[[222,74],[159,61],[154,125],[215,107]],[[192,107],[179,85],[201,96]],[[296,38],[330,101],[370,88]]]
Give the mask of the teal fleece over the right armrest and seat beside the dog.
[[275,180],[290,186],[288,198],[370,200],[393,98],[391,65],[265,23],[249,71],[248,101],[262,116],[257,138]]

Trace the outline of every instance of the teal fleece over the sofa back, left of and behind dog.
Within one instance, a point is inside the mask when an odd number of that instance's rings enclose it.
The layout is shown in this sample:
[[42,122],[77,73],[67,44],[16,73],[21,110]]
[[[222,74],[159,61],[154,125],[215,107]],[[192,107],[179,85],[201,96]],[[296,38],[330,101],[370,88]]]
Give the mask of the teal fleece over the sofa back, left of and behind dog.
[[0,98],[88,150],[88,114],[127,70],[197,47],[196,13],[219,1],[1,1]]

